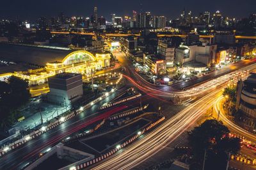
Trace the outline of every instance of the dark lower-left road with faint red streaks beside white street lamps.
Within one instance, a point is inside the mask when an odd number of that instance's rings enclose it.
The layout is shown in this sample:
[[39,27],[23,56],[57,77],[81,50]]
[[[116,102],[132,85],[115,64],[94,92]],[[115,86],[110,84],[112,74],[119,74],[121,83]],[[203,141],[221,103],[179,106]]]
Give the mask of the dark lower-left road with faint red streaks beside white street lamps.
[[[124,89],[121,89],[120,92],[122,92],[122,90]],[[105,100],[95,104],[95,106],[84,111],[80,115],[77,115],[54,129],[45,132],[41,136],[28,141],[19,148],[6,153],[3,157],[0,157],[0,169],[20,169],[22,166],[35,159],[40,152],[56,145],[73,132],[79,131],[79,129],[83,129],[94,122],[124,110],[127,106],[116,106],[110,110],[98,112],[99,106],[113,99],[118,93],[119,92],[111,94]]]

